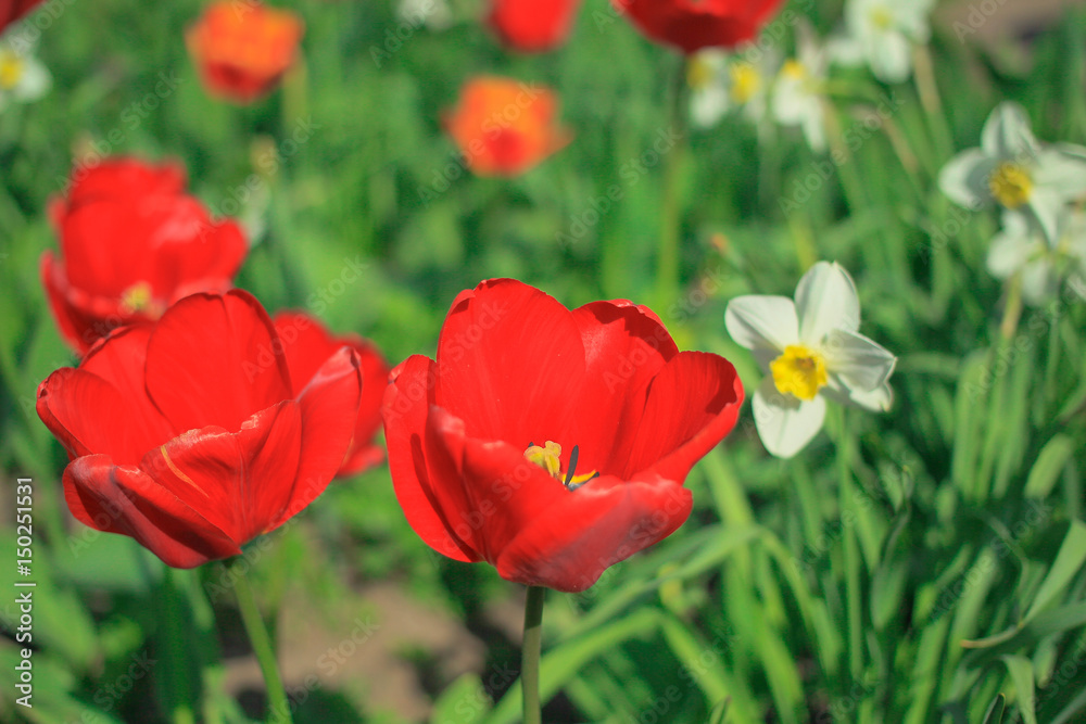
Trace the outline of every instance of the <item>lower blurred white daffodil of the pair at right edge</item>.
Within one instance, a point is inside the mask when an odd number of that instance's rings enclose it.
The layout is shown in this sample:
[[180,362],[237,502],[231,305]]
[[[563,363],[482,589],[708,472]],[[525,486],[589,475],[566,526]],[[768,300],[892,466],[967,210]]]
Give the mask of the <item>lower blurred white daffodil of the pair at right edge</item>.
[[988,249],[988,271],[997,279],[1021,274],[1022,299],[1034,306],[1056,299],[1064,278],[1086,296],[1086,213],[1064,209],[1056,244],[1021,214],[1003,214],[1003,228]]

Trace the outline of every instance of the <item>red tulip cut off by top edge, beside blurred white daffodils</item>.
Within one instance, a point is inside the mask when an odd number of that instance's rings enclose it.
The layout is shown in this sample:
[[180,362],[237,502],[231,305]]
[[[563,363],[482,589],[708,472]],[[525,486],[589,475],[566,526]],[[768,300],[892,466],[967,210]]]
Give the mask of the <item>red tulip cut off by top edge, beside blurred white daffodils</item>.
[[646,36],[690,54],[758,35],[782,0],[611,0]]

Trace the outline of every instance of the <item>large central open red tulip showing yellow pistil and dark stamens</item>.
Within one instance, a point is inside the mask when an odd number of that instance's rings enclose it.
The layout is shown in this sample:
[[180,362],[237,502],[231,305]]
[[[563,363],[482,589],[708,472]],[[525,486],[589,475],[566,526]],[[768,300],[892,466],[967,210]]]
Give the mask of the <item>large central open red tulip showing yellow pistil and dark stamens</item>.
[[434,550],[580,592],[686,520],[686,474],[742,402],[731,363],[679,352],[643,306],[484,281],[453,302],[435,360],[392,371],[389,467]]

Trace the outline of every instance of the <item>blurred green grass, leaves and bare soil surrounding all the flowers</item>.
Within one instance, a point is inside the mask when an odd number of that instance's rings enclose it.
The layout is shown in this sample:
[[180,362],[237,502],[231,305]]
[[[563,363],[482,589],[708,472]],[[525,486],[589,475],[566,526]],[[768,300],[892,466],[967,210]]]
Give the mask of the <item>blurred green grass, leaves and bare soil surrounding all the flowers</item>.
[[[35,707],[16,707],[4,683],[0,719],[162,722],[178,701],[205,722],[263,711],[224,569],[167,585],[138,545],[72,521],[65,456],[34,412],[37,384],[75,364],[38,258],[56,247],[48,201],[88,149],[180,160],[193,193],[260,230],[239,287],[269,310],[307,307],[359,332],[393,364],[433,354],[458,291],[508,276],[570,307],[648,303],[681,347],[733,360],[749,396],[759,373],[724,331],[728,300],[791,296],[811,263],[841,262],[861,331],[900,358],[894,409],[848,410],[781,461],[746,408],[691,474],[686,525],[585,594],[548,596],[546,721],[999,721],[1000,695],[1003,721],[1086,716],[1086,313],[1027,308],[1000,336],[1005,290],[984,266],[997,219],[935,183],[1002,99],[1025,105],[1039,138],[1086,142],[1082,7],[1045,24],[1024,15],[984,46],[988,30],[959,42],[952,29],[970,5],[939,8],[942,105],[915,81],[835,71],[838,142],[881,102],[900,104],[824,176],[825,156],[793,129],[733,116],[692,131],[678,168],[682,291],[659,299],[662,164],[629,169],[671,127],[680,59],[605,0],[586,0],[569,42],[536,56],[503,50],[480,2],[453,0],[447,28],[407,33],[388,2],[280,3],[305,21],[304,73],[248,107],[210,99],[187,56],[182,29],[201,3],[53,4],[38,49],[53,88],[0,113],[0,550],[15,547],[14,480],[33,477],[39,581]],[[1016,12],[990,4],[993,24]],[[823,37],[839,23],[839,2],[794,8]],[[781,29],[787,54],[795,28]],[[556,89],[576,140],[519,178],[464,172],[440,119],[478,74]],[[269,148],[280,163],[247,199],[254,154]],[[782,199],[812,174],[821,182],[786,213]],[[585,223],[615,183],[623,199]],[[295,721],[516,721],[522,590],[431,552],[386,467],[333,483],[248,558]],[[0,575],[5,624],[13,575]],[[17,656],[0,638],[0,681]]]

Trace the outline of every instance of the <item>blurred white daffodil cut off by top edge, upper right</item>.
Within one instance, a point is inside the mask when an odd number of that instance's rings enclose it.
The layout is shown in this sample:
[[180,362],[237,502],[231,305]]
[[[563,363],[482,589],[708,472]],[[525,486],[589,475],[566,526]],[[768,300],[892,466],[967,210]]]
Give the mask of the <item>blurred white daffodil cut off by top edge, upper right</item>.
[[849,0],[846,35],[831,43],[833,60],[867,63],[876,78],[901,82],[912,73],[912,43],[931,37],[927,16],[934,0]]

